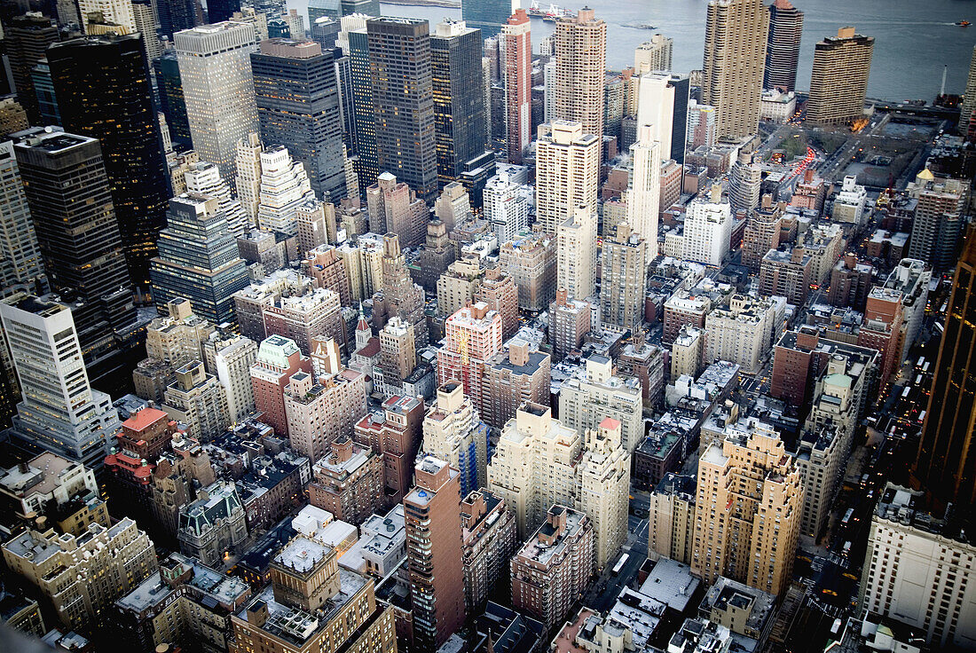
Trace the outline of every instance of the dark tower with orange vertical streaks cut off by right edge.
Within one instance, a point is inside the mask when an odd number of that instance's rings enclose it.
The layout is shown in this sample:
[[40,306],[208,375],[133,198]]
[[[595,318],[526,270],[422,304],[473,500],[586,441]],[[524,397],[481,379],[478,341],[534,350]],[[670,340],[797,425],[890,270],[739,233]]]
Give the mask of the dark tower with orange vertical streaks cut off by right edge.
[[976,504],[976,229],[956,265],[946,328],[925,410],[915,482],[940,505]]

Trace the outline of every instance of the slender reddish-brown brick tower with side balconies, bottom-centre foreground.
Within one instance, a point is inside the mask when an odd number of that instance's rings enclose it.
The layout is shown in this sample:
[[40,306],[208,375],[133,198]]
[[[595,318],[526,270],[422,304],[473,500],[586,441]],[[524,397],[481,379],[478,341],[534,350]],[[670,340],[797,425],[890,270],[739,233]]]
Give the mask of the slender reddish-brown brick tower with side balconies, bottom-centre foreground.
[[460,472],[433,456],[417,462],[403,499],[414,645],[435,650],[465,621]]

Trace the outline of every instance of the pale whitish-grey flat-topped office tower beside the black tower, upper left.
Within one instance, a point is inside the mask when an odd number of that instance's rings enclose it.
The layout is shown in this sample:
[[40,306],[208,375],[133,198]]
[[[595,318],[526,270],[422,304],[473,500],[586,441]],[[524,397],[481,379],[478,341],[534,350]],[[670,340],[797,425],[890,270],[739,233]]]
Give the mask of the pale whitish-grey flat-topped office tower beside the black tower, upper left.
[[193,149],[232,184],[237,142],[259,128],[251,74],[254,28],[219,22],[185,29],[173,41]]

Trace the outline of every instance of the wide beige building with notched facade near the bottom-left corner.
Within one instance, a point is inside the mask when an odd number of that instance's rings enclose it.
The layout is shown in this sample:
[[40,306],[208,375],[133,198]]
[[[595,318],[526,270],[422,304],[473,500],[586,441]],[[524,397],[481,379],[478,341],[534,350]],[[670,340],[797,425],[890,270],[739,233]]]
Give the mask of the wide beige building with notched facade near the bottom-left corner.
[[106,623],[112,602],[156,571],[152,542],[129,517],[82,537],[54,530],[20,533],[3,546],[7,567],[37,588],[61,626],[85,631]]

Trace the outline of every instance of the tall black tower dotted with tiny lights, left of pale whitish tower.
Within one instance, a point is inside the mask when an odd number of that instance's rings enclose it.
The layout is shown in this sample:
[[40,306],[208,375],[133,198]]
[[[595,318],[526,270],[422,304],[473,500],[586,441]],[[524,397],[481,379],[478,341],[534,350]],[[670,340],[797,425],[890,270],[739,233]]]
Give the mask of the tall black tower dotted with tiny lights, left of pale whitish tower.
[[47,57],[64,128],[102,142],[129,273],[145,288],[170,193],[142,37],[86,36]]

